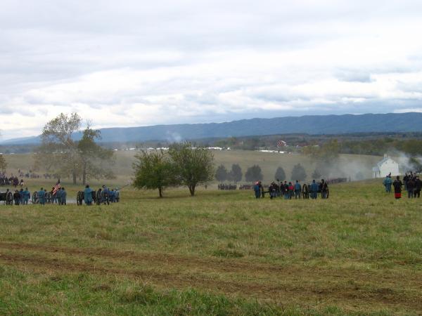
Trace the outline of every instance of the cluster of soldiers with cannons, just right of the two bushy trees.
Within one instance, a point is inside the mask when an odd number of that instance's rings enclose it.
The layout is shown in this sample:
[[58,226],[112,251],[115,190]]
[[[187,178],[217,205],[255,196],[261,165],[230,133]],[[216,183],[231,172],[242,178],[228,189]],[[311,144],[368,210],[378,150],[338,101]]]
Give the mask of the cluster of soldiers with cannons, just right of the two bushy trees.
[[274,199],[275,197],[284,197],[284,199],[301,199],[302,197],[316,199],[318,193],[321,194],[321,199],[328,198],[328,185],[324,179],[321,179],[320,183],[316,183],[312,180],[312,183],[307,185],[301,185],[299,180],[293,184],[291,182],[284,181],[281,183],[271,183],[268,187],[268,191],[264,190],[264,186],[261,181],[257,181],[253,187],[255,197],[257,199],[265,197],[265,193],[269,193],[269,198]]

